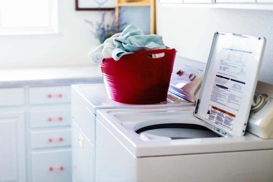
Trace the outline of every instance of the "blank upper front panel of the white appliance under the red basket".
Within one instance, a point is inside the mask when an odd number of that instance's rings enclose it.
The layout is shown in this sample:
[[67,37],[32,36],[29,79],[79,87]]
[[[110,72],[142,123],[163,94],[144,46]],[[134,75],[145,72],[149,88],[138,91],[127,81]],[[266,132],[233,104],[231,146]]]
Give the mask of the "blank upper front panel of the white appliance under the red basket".
[[71,115],[82,129],[87,138],[95,144],[96,141],[96,116],[72,94]]

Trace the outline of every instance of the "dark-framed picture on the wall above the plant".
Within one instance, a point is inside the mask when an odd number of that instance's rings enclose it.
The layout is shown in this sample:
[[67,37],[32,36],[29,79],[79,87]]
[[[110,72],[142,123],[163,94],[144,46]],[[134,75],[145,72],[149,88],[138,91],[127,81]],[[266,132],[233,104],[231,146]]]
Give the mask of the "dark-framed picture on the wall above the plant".
[[76,11],[111,11],[116,7],[116,0],[75,0]]

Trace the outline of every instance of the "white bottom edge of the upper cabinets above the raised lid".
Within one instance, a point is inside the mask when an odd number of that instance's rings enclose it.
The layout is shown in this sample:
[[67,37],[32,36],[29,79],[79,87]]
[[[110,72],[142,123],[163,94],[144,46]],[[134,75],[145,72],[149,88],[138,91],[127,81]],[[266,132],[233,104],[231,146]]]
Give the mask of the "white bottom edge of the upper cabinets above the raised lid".
[[160,2],[162,3],[163,7],[273,10],[273,4],[183,4],[183,3],[167,3],[168,0],[166,1],[161,0]]

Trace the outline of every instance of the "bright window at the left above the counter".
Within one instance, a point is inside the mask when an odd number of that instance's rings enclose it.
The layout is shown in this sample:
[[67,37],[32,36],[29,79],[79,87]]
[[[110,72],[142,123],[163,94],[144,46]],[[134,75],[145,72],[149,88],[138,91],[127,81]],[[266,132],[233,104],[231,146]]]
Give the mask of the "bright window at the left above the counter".
[[58,0],[0,0],[0,35],[58,32]]

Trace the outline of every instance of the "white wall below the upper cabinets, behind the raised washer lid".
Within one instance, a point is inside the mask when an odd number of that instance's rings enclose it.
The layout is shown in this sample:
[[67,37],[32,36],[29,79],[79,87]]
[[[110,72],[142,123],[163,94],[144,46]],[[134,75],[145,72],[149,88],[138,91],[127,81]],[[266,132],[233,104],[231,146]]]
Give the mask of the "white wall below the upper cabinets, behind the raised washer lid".
[[265,37],[259,80],[273,84],[273,11],[173,8],[157,1],[157,33],[179,55],[207,62],[216,31]]

